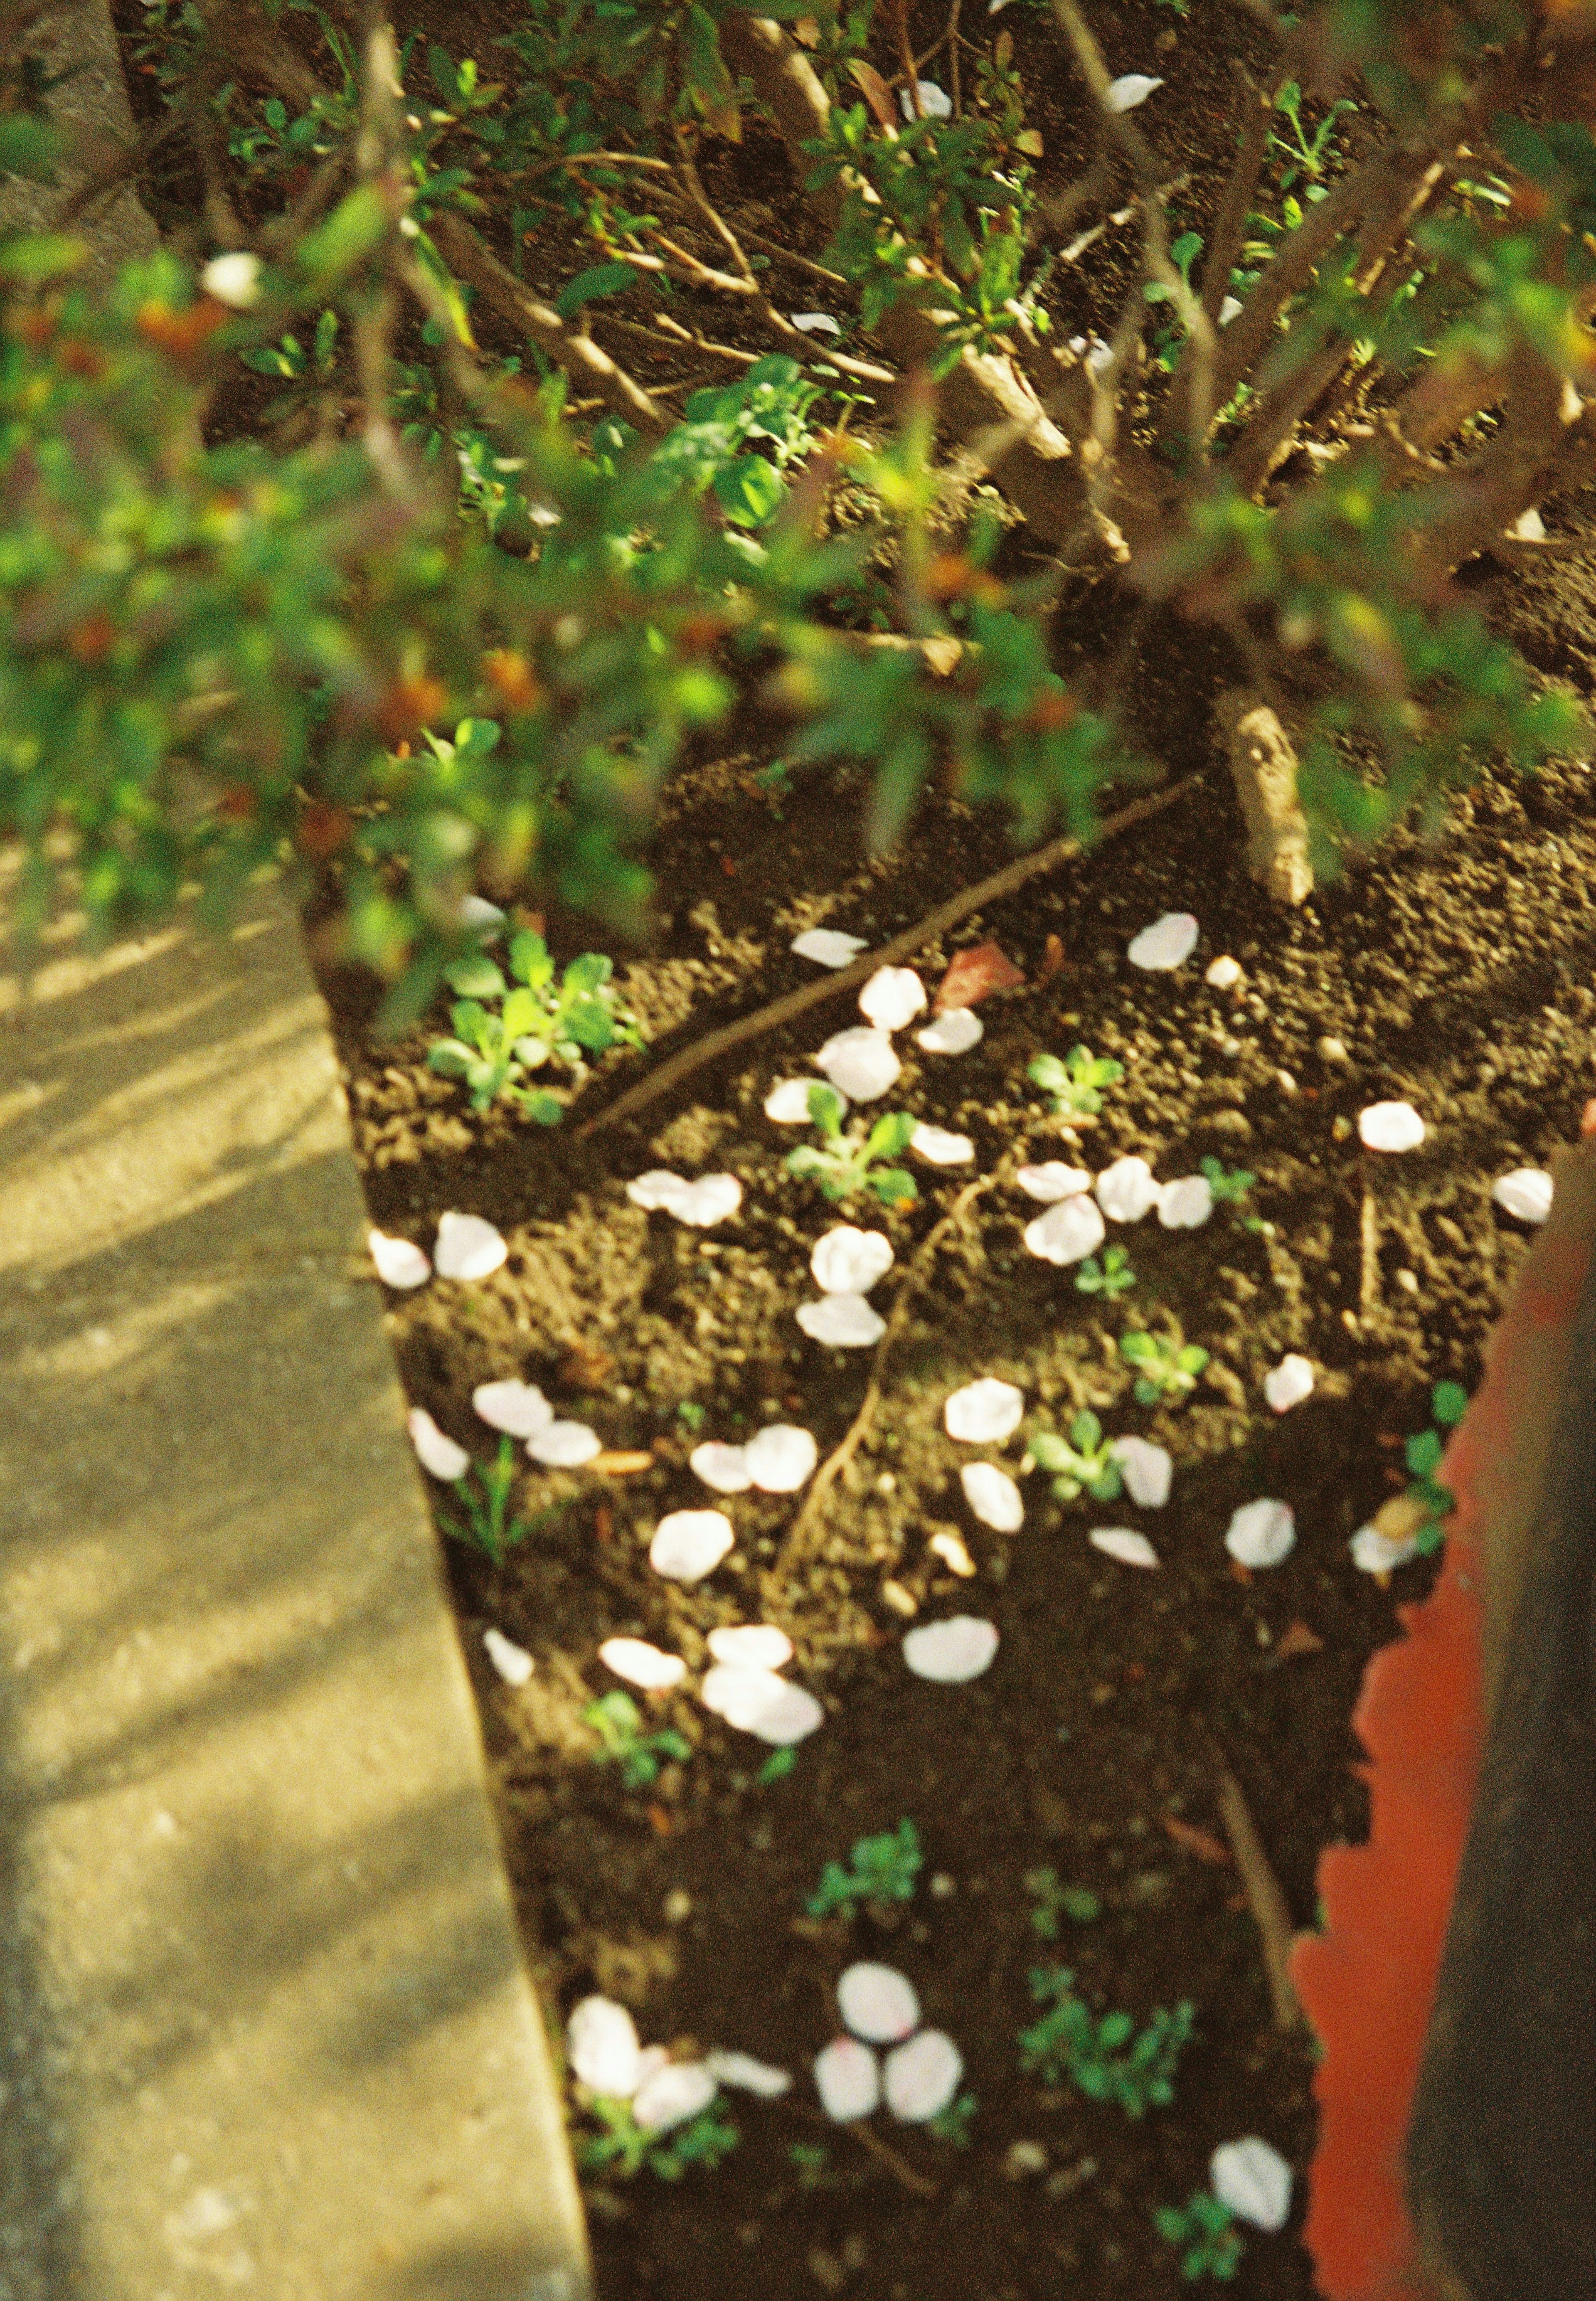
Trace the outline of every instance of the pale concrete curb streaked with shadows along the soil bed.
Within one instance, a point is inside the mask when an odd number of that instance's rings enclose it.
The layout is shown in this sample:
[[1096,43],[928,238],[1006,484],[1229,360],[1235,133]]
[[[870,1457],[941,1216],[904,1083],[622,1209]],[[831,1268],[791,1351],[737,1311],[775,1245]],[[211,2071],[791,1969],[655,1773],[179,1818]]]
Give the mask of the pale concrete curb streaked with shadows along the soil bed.
[[0,971],[0,2301],[591,2294],[363,1233],[281,893]]

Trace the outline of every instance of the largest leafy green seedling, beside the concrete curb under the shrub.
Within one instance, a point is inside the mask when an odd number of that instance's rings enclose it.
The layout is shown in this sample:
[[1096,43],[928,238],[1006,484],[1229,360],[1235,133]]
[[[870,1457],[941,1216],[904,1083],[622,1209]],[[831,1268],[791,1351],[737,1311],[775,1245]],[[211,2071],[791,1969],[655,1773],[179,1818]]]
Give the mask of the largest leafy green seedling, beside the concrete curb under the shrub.
[[[600,950],[584,950],[557,987],[547,943],[531,932],[511,943],[515,987],[485,953],[458,960],[444,973],[448,987],[460,992],[448,1010],[455,1035],[428,1047],[428,1070],[465,1079],[474,1111],[485,1111],[506,1095],[529,1118],[554,1125],[563,1104],[545,1088],[522,1086],[529,1070],[554,1058],[566,1070],[582,1072],[589,1054],[644,1042],[635,1017],[619,1003],[612,971]],[[483,1006],[485,999],[504,1001],[497,1015]]]

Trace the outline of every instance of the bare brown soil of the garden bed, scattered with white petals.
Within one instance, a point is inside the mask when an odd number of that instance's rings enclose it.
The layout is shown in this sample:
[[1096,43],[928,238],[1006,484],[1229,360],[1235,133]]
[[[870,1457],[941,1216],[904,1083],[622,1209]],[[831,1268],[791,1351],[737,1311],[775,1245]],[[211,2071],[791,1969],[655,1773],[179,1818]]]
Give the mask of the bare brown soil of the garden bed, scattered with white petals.
[[[504,28],[485,5],[414,0],[396,18],[400,37],[423,30],[485,71]],[[943,30],[922,7],[911,18],[918,48]],[[1164,106],[1141,120],[1171,173],[1189,173],[1200,216],[1228,156],[1244,18],[1194,0],[1191,16],[1127,5],[1095,21],[1111,71],[1168,76]],[[1083,150],[1079,87],[1037,12],[1014,7],[1005,23],[1049,170],[1065,179]],[[292,18],[292,37],[327,64],[308,16]],[[156,198],[172,221],[202,191],[182,156],[166,166]],[[738,152],[713,152],[706,179],[791,237],[793,189],[773,138],[750,131]],[[1097,244],[1090,269],[1060,288],[1058,324],[1111,320],[1131,246],[1113,232]],[[536,262],[531,276],[543,281]],[[724,334],[724,313],[704,315]],[[660,354],[649,382],[672,377],[720,380]],[[248,380],[212,421],[248,430],[260,405]],[[1023,552],[1023,534],[1012,550]],[[1585,695],[1596,665],[1587,584],[1578,568],[1536,573],[1497,601],[1502,628]],[[752,713],[676,778],[649,858],[655,941],[616,955],[649,1045],[605,1056],[559,1130],[504,1109],[471,1116],[465,1091],[425,1070],[442,1006],[407,1038],[377,1042],[377,985],[324,973],[373,1222],[430,1249],[455,1208],[508,1240],[485,1282],[391,1293],[412,1404],[485,1463],[492,1440],[471,1390],[520,1376],[591,1422],[612,1454],[649,1459],[616,1475],[522,1461],[515,1509],[534,1532],[501,1567],[446,1544],[550,2013],[598,1988],[635,2006],[649,2041],[741,2048],[796,2078],[780,2101],[729,2096],[741,2142],[713,2172],[593,2181],[605,2301],[745,2301],[754,2289],[766,2301],[1044,2301],[1065,2289],[1154,2301],[1184,2289],[1154,2207],[1203,2188],[1212,2149],[1244,2133],[1279,2147],[1299,2179],[1286,2232],[1244,2232],[1235,2289],[1256,2301],[1313,2289],[1292,2234],[1313,2149],[1313,2052],[1274,2025],[1217,1783],[1228,1765],[1292,1921],[1311,1926],[1320,1850],[1366,1829],[1348,1726],[1361,1668],[1396,1634],[1396,1604],[1433,1574],[1414,1562],[1380,1585],[1352,1567],[1348,1537],[1405,1484],[1403,1440],[1428,1422],[1430,1385],[1479,1376],[1525,1249],[1522,1226],[1493,1206],[1493,1180],[1545,1164],[1578,1134],[1591,1084],[1596,805],[1585,762],[1488,778],[1433,833],[1403,831],[1281,911],[1246,877],[1207,734],[1228,674],[1210,640],[1152,617],[1115,653],[1127,635],[1088,589],[1067,601],[1058,637],[1062,670],[1113,665],[1136,739],[1189,787],[1141,831],[918,955],[934,985],[957,948],[996,939],[1026,983],[980,1008],[984,1038],[968,1054],[922,1054],[913,1031],[899,1033],[904,1072],[878,1109],[975,1146],[966,1167],[915,1164],[906,1208],[832,1210],[784,1171],[793,1130],[764,1116],[773,1079],[805,1075],[819,1042],[860,1019],[851,994],[699,1070],[637,1123],[584,1132],[651,1063],[814,980],[789,950],[798,930],[826,923],[883,943],[1010,854],[1000,826],[931,801],[901,849],[872,861],[862,780],[766,773],[780,729]],[[1175,973],[1143,973],[1127,943],[1164,911],[1194,911],[1200,939]],[[582,920],[550,913],[547,925],[559,960],[596,941]],[[1242,980],[1214,989],[1205,966],[1223,953]],[[1028,1063],[1076,1042],[1115,1056],[1125,1079],[1069,1139]],[[1355,1132],[1359,1109],[1389,1098],[1410,1100],[1428,1127],[1401,1157],[1361,1150]],[[1102,1169],[1122,1153],[1161,1180],[1212,1153],[1256,1183],[1203,1229],[1148,1217],[1113,1233],[1138,1284],[1106,1305],[1023,1249],[1037,1206],[1010,1176],[1023,1160]],[[653,1167],[736,1174],[741,1210],[708,1233],[644,1213],[626,1183]],[[970,1194],[977,1176],[989,1187]],[[957,1222],[920,1252],[954,1203]],[[803,1496],[743,1493],[724,1505],[738,1535],[724,1565],[695,1588],[667,1583],[646,1560],[658,1519],[720,1500],[688,1468],[699,1438],[798,1422],[826,1459],[860,1411],[874,1355],[821,1348],[793,1318],[814,1298],[809,1249],[837,1220],[892,1240],[897,1263],[874,1295],[883,1312],[901,1284],[915,1289],[876,1367],[874,1420],[796,1555],[784,1537]],[[1212,1353],[1180,1408],[1134,1401],[1118,1341],[1141,1325]],[[1276,1417],[1260,1378],[1288,1351],[1318,1381]],[[1037,1473],[1023,1480],[1019,1532],[977,1523],[961,1461],[1003,1459],[1016,1473],[1023,1450],[1023,1431],[1007,1447],[947,1438],[943,1401],[977,1376],[1023,1388],[1026,1429],[1065,1427],[1090,1406],[1111,1434],[1166,1445],[1168,1507],[1060,1505]],[[1223,1532],[1260,1496],[1290,1503],[1297,1542],[1279,1567],[1249,1574]],[[1145,1532],[1159,1572],[1095,1551],[1085,1535],[1104,1523]],[[968,1576],[929,1549],[947,1530]],[[964,1687],[924,1684],[904,1666],[904,1629],[911,1615],[952,1613],[998,1627],[996,1661]],[[692,1687],[706,1634],[743,1620],[791,1634],[789,1675],[821,1696],[823,1728],[791,1774],[761,1786],[764,1746],[692,1691],[639,1696],[651,1730],[678,1733],[690,1758],[630,1795],[616,1767],[596,1763],[582,1719],[616,1687],[600,1641],[628,1634],[681,1652]],[[490,1627],[531,1652],[524,1687],[490,1668]],[[897,1921],[805,1917],[823,1864],[901,1818],[927,1859]],[[1044,1940],[1026,1882],[1039,1868],[1097,1896],[1099,1917],[1065,1917]],[[839,2029],[835,1981],[860,1956],[899,1965],[924,2020],[959,2043],[975,2099],[964,2145],[881,2112],[881,2151],[821,2115],[809,2062]],[[1191,2000],[1196,2036],[1171,2108],[1129,2119],[1021,2071],[1016,2032],[1037,2013],[1028,1974],[1046,1963],[1067,1965],[1095,2011],[1125,2009],[1138,2025]]]

